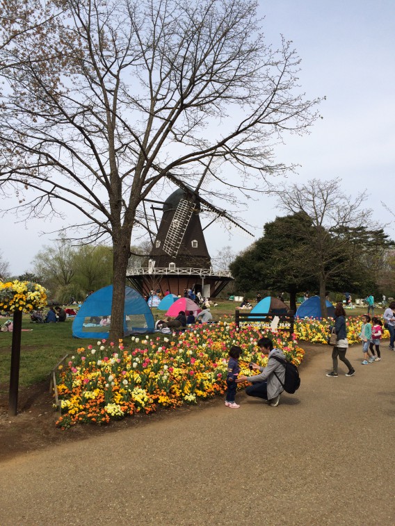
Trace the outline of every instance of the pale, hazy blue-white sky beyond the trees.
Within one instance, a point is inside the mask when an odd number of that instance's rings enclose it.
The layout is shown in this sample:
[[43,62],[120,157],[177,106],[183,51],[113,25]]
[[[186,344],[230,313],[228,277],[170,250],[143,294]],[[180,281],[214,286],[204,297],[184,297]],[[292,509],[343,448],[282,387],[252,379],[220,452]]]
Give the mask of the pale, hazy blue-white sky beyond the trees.
[[[268,43],[280,44],[280,35],[293,41],[302,63],[300,85],[308,98],[326,97],[319,107],[323,119],[309,133],[287,137],[276,147],[276,161],[296,163],[290,183],[310,179],[337,179],[351,197],[367,190],[366,208],[373,220],[392,229],[395,180],[395,2],[393,0],[276,0],[259,1]],[[284,182],[282,179],[279,183]],[[395,207],[393,208],[395,209]],[[241,213],[255,239],[266,222],[282,211],[276,199],[262,195]],[[69,213],[72,222],[73,212]],[[63,222],[64,224],[64,222]],[[0,247],[13,275],[31,270],[31,261],[44,245],[51,245],[61,223],[30,220],[15,222],[13,215],[1,220]],[[43,235],[40,233],[46,232]],[[204,231],[211,257],[230,245],[240,252],[252,243],[219,224]]]

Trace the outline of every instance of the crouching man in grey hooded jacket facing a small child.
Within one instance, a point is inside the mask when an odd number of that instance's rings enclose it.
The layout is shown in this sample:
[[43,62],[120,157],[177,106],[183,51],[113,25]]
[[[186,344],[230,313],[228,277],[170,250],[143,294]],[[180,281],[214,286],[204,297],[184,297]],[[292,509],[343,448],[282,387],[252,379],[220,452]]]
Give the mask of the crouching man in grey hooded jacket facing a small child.
[[285,367],[273,356],[278,356],[283,361],[285,356],[280,349],[273,348],[273,342],[270,338],[261,338],[258,341],[258,347],[261,352],[269,355],[268,365],[260,367],[257,363],[251,363],[250,367],[259,369],[261,374],[251,377],[241,375],[236,382],[249,381],[252,386],[248,386],[245,389],[245,393],[248,396],[263,398],[268,400],[269,405],[276,407],[278,402],[280,402],[280,395],[284,391],[282,384],[284,384],[285,379]]

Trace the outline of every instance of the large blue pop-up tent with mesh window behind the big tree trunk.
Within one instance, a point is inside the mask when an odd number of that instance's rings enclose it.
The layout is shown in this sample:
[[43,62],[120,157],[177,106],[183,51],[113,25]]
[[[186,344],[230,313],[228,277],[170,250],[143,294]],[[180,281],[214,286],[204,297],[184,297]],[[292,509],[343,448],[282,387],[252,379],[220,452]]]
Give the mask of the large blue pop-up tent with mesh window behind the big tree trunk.
[[[88,296],[73,321],[73,336],[75,338],[108,338],[112,304],[112,285],[101,288]],[[124,336],[153,332],[154,328],[154,316],[143,296],[134,288],[125,287]]]

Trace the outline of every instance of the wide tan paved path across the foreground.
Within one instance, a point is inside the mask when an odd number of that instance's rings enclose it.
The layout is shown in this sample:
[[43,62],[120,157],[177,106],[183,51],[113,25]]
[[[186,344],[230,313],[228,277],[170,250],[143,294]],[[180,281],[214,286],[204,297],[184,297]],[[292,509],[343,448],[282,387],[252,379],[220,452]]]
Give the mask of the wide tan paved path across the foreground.
[[0,524],[394,526],[395,353],[348,354],[355,377],[327,378],[319,347],[277,408],[218,400],[4,461]]

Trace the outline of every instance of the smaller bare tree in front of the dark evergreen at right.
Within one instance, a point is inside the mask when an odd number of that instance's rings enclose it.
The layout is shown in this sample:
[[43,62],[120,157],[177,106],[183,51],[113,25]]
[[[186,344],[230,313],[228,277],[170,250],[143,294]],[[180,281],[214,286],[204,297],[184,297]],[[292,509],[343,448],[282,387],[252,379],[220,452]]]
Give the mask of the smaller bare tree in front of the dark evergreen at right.
[[[319,281],[321,313],[326,315],[325,295],[329,279],[345,274],[359,264],[364,247],[361,240],[366,234],[366,224],[371,220],[371,210],[362,208],[366,194],[352,199],[339,186],[339,179],[321,181],[312,179],[306,184],[293,184],[276,190],[280,208],[288,213],[303,213],[304,235],[311,246],[305,262],[312,277]],[[303,223],[301,223],[303,225]],[[289,232],[289,235],[293,235]]]

